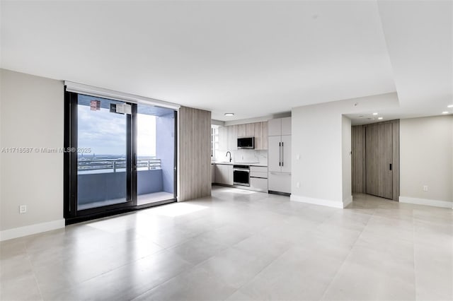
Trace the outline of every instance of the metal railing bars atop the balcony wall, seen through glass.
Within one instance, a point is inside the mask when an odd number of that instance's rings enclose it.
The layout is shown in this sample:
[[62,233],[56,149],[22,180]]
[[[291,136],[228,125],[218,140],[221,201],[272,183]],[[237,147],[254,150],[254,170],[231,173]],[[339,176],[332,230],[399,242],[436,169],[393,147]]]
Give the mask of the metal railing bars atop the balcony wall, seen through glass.
[[[93,172],[117,172],[125,171],[127,167],[126,159],[95,159],[77,161],[77,171]],[[137,159],[137,170],[160,170],[161,159]]]

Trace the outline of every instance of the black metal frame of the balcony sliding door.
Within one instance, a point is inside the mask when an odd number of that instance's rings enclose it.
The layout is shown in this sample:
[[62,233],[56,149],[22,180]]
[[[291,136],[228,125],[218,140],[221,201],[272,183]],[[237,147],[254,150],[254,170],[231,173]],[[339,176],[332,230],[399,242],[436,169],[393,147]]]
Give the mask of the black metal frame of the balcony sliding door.
[[[118,203],[83,211],[77,210],[77,98],[79,93],[64,92],[64,218],[66,225],[85,220],[173,203],[177,199],[177,117],[175,111],[175,157],[173,199],[137,206],[137,104],[131,103],[132,114],[127,116],[127,195],[125,203]],[[108,98],[105,98],[108,99]],[[121,100],[120,100],[121,101]]]

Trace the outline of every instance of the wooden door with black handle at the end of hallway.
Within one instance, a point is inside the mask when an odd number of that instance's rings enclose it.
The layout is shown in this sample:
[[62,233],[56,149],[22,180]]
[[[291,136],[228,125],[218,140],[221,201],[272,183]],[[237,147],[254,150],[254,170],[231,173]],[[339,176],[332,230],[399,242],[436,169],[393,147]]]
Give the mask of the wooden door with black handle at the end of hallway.
[[365,134],[367,194],[393,198],[393,126],[370,124]]

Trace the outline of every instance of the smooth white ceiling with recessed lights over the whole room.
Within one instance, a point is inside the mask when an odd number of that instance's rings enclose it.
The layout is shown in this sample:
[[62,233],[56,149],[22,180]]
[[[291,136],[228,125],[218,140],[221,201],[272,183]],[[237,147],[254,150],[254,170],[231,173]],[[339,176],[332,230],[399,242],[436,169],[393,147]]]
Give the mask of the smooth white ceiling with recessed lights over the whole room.
[[392,92],[384,117],[429,116],[453,103],[452,14],[452,1],[1,1],[1,67],[219,120]]

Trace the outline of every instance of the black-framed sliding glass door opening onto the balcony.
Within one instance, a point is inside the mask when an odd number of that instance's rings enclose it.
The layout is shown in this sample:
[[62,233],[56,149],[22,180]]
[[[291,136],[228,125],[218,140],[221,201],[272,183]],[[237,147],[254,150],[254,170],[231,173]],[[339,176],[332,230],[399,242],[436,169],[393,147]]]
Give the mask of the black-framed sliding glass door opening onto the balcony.
[[174,110],[67,92],[65,111],[67,222],[176,201]]

